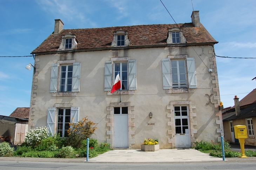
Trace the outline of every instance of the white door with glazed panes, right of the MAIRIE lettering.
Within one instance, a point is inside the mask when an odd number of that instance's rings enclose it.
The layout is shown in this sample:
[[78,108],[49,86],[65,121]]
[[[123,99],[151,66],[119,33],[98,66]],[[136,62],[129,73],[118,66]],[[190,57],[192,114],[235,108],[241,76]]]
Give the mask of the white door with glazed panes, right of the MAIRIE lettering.
[[187,106],[174,106],[175,148],[191,148]]

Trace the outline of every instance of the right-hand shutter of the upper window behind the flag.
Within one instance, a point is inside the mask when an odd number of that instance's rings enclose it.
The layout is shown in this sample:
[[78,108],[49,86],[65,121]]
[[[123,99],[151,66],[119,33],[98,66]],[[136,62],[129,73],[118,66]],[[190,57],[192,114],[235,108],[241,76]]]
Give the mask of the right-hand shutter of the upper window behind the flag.
[[137,89],[137,70],[136,60],[128,60],[128,90]]

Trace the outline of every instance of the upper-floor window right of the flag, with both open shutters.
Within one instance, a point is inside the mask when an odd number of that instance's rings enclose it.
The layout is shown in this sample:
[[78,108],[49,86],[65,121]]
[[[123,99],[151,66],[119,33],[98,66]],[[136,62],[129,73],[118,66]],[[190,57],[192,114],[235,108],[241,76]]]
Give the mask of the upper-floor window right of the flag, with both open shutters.
[[197,88],[195,58],[171,57],[162,59],[163,89]]

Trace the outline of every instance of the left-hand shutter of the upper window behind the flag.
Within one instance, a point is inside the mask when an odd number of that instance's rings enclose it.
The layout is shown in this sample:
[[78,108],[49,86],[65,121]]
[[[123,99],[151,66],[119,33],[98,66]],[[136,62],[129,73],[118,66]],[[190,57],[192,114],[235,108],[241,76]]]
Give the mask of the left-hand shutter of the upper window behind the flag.
[[104,91],[112,89],[112,61],[105,62],[105,78],[104,78]]

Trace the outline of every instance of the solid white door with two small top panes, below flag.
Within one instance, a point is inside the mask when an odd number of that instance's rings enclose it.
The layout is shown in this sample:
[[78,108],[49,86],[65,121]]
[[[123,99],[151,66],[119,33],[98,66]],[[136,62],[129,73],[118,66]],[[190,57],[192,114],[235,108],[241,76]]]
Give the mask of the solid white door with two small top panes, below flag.
[[128,148],[128,107],[114,108],[113,148]]

